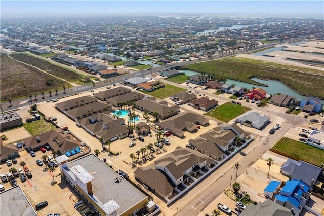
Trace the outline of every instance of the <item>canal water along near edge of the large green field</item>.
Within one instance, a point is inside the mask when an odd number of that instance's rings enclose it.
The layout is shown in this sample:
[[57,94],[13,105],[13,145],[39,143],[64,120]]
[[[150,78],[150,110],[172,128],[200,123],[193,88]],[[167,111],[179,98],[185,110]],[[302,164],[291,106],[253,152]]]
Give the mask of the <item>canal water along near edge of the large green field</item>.
[[[185,73],[188,76],[192,76],[195,74],[199,74],[198,72],[192,71],[192,70],[180,70],[183,71],[183,73]],[[258,86],[255,84],[250,84],[250,83],[246,83],[246,82],[240,82],[237,80],[231,80],[231,79],[227,79],[226,83],[231,85],[231,84],[235,84],[235,86],[237,87],[243,87],[243,88],[247,88],[247,89],[252,89],[252,87],[255,88],[262,88],[265,91],[267,91],[267,94],[276,94],[276,93],[282,93],[282,94],[287,94],[293,97],[297,97],[298,100],[300,101],[302,98],[305,98],[305,96],[299,94],[298,92],[296,92],[295,90],[291,89],[290,87],[286,86],[285,84],[277,81],[277,80],[261,80],[258,78],[252,78],[251,80],[254,80],[256,82],[262,83],[262,84],[266,84],[268,86]],[[324,100],[321,100],[322,103],[324,103]]]

